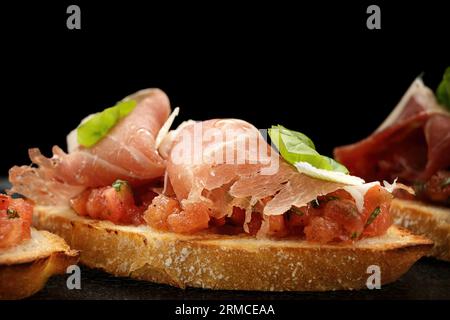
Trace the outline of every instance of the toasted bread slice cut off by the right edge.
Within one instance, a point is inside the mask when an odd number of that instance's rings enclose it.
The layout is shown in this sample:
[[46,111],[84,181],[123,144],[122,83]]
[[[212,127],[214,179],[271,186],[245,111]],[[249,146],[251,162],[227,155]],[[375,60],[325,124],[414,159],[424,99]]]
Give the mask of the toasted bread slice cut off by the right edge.
[[394,199],[391,204],[395,223],[434,242],[429,255],[450,261],[450,209],[419,201]]

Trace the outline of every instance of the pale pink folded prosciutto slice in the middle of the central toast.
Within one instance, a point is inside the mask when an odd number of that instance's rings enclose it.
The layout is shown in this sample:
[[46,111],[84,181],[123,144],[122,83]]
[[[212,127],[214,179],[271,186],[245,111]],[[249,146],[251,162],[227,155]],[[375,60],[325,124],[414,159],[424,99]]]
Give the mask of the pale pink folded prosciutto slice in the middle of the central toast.
[[191,121],[172,137],[164,149],[170,149],[167,174],[177,198],[183,205],[207,204],[215,218],[231,215],[238,206],[246,209],[248,222],[263,199],[261,213],[281,215],[343,187],[299,173],[243,120]]

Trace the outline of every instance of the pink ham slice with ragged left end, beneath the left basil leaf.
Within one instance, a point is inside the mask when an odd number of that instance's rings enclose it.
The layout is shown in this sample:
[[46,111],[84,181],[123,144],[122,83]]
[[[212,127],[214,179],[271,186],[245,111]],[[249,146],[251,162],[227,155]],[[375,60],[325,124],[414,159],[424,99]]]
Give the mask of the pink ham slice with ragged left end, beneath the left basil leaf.
[[162,177],[165,162],[156,137],[169,116],[169,99],[159,89],[142,90],[126,99],[137,102],[134,110],[93,147],[71,145],[65,153],[55,146],[52,158],[31,149],[30,158],[38,168],[13,167],[12,192],[38,203],[57,204],[83,188],[110,185],[117,179],[139,185]]

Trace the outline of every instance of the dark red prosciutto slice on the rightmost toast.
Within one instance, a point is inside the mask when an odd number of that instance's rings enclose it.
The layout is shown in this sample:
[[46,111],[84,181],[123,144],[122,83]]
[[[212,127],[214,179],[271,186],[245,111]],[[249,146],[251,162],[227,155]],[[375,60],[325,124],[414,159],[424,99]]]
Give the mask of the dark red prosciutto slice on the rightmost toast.
[[334,150],[351,174],[366,180],[425,182],[450,167],[450,114],[416,79],[369,137]]

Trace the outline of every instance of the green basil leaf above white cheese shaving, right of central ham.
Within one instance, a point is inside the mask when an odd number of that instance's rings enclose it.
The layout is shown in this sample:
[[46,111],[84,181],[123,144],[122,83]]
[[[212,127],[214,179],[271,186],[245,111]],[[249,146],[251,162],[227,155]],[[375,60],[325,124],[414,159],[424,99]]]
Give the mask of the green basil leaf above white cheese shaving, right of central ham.
[[269,129],[269,136],[281,156],[290,164],[307,162],[318,169],[348,174],[342,164],[318,153],[312,140],[301,132],[278,125]]

